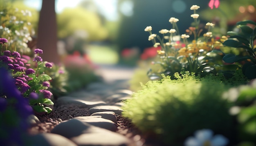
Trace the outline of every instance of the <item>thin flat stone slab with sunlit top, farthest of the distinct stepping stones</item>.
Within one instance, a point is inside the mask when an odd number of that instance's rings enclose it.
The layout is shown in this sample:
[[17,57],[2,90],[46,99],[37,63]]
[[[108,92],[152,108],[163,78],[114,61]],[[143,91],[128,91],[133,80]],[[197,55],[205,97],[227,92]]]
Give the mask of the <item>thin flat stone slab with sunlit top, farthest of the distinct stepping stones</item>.
[[121,115],[121,113],[124,110],[122,110],[119,106],[95,106],[89,109],[90,114],[93,114],[96,112],[103,112],[103,111],[112,111],[117,115]]

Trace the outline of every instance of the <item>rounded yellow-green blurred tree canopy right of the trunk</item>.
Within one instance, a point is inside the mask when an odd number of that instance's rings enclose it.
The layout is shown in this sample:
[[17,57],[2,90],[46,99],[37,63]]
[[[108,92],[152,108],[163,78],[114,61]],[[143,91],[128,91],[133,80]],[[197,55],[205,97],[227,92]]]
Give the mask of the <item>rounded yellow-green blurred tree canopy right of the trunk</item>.
[[76,31],[86,33],[89,41],[104,40],[108,36],[108,31],[103,27],[99,15],[83,7],[64,9],[57,15],[57,23],[59,38],[74,35]]

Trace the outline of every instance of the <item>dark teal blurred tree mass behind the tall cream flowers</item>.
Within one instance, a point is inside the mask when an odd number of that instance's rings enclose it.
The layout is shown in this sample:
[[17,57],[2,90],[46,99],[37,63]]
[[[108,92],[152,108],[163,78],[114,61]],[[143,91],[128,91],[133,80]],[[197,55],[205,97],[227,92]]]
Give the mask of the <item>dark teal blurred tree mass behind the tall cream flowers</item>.
[[[121,2],[124,2],[122,0]],[[194,4],[200,6],[197,13],[208,7],[209,0],[130,0],[133,2],[133,15],[122,15],[119,25],[117,44],[119,49],[131,48],[134,46],[143,50],[146,47],[153,46],[148,41],[148,32],[144,29],[147,26],[153,27],[152,32],[158,33],[161,29],[171,29],[169,22],[171,17],[179,19],[177,23],[180,33],[193,22],[190,7]],[[119,3],[119,6],[121,4]],[[210,9],[208,7],[208,9]],[[202,20],[201,20],[202,22]]]

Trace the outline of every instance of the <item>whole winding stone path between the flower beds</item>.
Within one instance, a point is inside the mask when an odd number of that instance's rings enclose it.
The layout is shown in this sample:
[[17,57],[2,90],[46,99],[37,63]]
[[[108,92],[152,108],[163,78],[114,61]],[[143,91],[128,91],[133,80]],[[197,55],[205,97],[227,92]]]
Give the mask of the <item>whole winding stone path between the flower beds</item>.
[[[99,66],[105,82],[59,97],[58,104],[76,104],[89,108],[90,116],[74,117],[60,122],[51,133],[32,136],[35,146],[132,146],[142,145],[139,137],[130,139],[117,133],[116,114],[122,112],[122,100],[130,98],[128,79],[134,69]],[[139,136],[139,135],[137,135]],[[137,139],[137,143],[136,143]]]

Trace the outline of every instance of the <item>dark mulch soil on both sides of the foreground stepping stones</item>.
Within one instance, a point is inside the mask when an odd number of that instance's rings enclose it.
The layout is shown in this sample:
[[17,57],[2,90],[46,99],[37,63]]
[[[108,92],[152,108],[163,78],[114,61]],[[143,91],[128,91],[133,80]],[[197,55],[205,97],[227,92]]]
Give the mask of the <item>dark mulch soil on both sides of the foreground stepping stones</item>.
[[[29,128],[31,135],[38,133],[50,133],[52,129],[67,119],[72,119],[79,116],[90,116],[88,108],[81,107],[75,104],[61,105],[55,102],[54,110],[50,114],[38,115],[35,114],[40,122],[32,125]],[[159,142],[154,137],[141,133],[139,129],[134,126],[129,119],[116,115],[117,117],[117,133],[125,135],[132,140],[130,146],[160,146]]]

